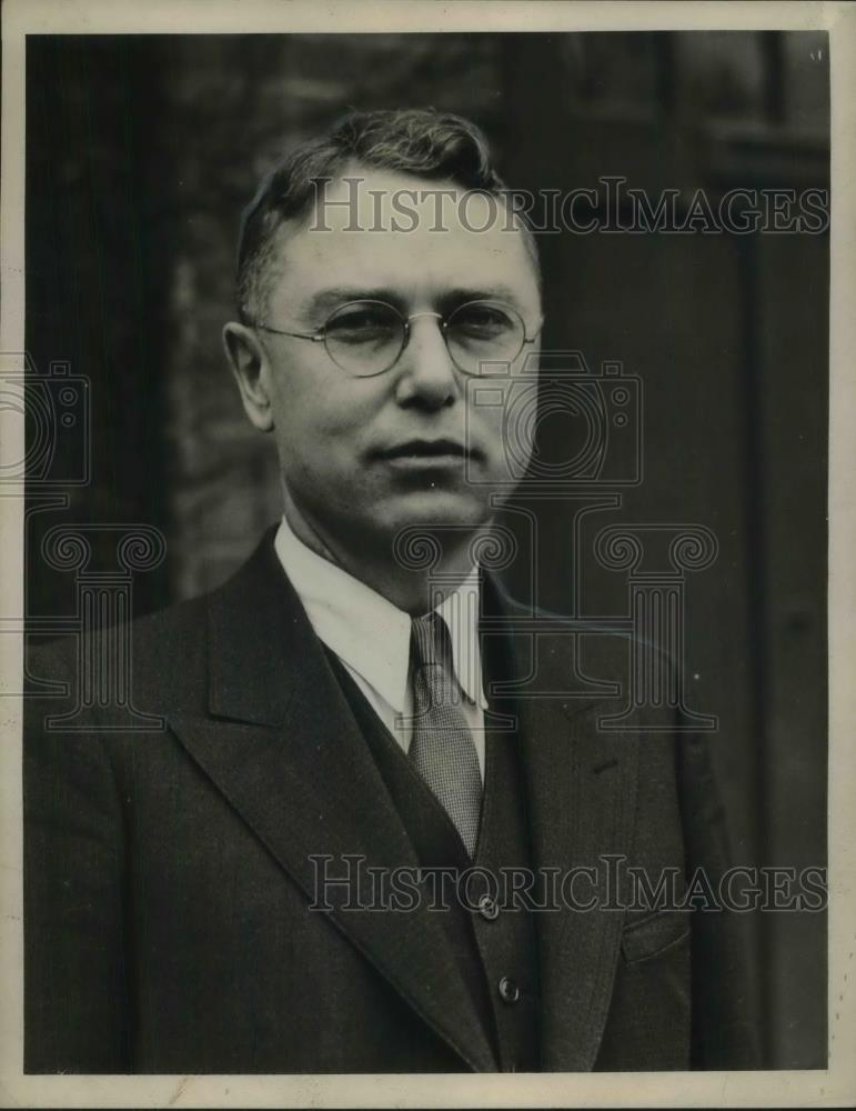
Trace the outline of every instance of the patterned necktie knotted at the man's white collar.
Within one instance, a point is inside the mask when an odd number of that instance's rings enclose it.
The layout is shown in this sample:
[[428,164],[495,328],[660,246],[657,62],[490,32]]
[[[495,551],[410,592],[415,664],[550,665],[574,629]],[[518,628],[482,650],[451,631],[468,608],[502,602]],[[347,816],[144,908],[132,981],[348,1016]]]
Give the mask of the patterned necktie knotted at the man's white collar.
[[452,672],[449,630],[437,613],[413,619],[411,659],[414,718],[410,759],[474,857],[482,775]]

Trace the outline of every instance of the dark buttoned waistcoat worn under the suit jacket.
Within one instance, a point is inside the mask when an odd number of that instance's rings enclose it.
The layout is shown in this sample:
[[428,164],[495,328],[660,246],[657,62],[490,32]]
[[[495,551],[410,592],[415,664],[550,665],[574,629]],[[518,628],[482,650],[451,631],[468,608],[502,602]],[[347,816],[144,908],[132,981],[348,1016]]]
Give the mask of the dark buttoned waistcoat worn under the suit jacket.
[[[493,640],[494,638],[487,638]],[[507,673],[494,650],[486,673]],[[489,695],[485,782],[475,858],[351,675],[328,650],[333,671],[377,764],[430,884],[497,1069],[538,1068],[538,962],[532,914],[512,889],[512,871],[531,868],[526,800],[510,700]],[[485,660],[487,664],[489,661]],[[504,728],[503,728],[504,727]],[[445,870],[445,874],[443,871]],[[406,912],[405,912],[406,913]]]

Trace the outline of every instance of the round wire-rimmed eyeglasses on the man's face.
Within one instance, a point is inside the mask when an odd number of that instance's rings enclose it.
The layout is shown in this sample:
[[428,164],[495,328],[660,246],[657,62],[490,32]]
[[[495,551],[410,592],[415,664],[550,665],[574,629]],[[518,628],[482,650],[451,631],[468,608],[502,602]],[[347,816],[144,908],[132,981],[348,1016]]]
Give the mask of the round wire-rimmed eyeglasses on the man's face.
[[[275,336],[323,343],[333,362],[354,378],[371,378],[391,370],[410,340],[410,324],[420,317],[435,317],[455,367],[465,374],[495,372],[496,363],[511,363],[541,331],[526,336],[516,309],[502,301],[467,301],[450,313],[414,312],[402,316],[385,301],[359,300],[340,304],[314,332],[286,331],[268,324],[253,327]],[[491,366],[493,364],[493,367]]]

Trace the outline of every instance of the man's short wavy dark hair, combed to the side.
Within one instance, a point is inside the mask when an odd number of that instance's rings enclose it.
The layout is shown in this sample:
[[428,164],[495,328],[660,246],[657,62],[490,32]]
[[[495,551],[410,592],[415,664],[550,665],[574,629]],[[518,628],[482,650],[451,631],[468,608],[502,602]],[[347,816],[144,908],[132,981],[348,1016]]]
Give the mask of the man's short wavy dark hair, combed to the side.
[[[482,131],[469,120],[434,109],[352,111],[324,134],[300,143],[262,180],[243,212],[238,241],[238,311],[244,322],[265,311],[278,231],[304,217],[318,196],[318,182],[333,180],[349,163],[501,197],[506,186],[491,161]],[[518,217],[540,277],[534,237]]]

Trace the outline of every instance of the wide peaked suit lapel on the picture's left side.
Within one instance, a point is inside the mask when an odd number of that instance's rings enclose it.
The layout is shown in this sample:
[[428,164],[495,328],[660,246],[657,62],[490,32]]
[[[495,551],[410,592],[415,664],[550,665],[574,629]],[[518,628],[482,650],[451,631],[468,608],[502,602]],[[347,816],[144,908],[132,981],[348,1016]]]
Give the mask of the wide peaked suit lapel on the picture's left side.
[[[311,902],[476,1071],[496,1063],[447,937],[425,902],[349,902],[341,875],[415,869],[413,848],[303,607],[265,537],[210,603],[209,717],[173,714],[181,743]],[[324,858],[328,858],[326,862]],[[366,874],[366,873],[363,873]],[[365,885],[363,885],[363,894]],[[366,900],[371,903],[371,899]]]

